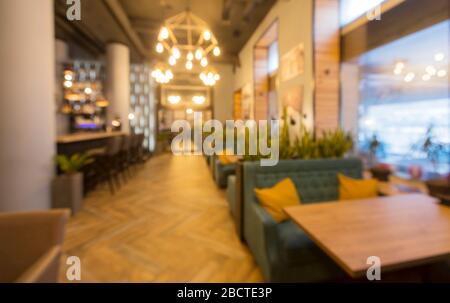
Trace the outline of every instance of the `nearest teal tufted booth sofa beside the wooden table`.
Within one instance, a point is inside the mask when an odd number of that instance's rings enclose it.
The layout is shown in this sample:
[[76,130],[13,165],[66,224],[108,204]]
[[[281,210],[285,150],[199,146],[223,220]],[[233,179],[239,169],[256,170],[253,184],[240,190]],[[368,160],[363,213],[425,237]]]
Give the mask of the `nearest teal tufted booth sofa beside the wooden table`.
[[302,204],[338,200],[337,173],[362,178],[359,159],[282,160],[276,166],[243,165],[243,235],[269,282],[336,281],[346,274],[291,220],[276,223],[257,201],[254,188],[284,178],[295,183]]

